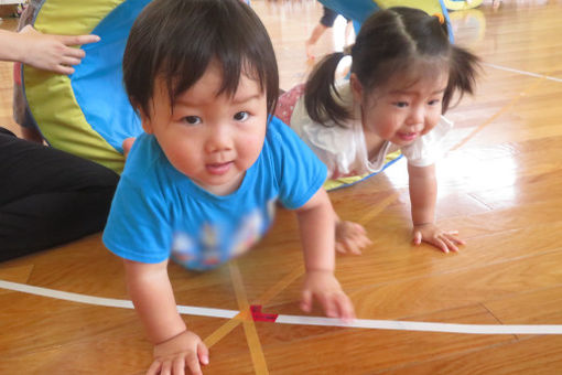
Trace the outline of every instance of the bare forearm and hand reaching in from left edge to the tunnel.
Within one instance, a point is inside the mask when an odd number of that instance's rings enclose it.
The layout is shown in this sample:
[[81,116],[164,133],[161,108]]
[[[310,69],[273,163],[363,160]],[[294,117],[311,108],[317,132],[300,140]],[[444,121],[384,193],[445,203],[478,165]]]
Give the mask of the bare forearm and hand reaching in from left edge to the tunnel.
[[72,45],[97,41],[97,35],[43,34],[31,25],[19,33],[0,30],[0,60],[22,62],[58,74],[72,74],[72,66],[79,64],[85,56],[84,50]]

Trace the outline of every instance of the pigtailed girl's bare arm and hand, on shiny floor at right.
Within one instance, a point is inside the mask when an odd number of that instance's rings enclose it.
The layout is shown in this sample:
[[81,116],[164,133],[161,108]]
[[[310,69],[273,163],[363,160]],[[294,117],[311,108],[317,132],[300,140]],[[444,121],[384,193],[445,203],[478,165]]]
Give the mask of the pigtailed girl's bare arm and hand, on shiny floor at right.
[[412,205],[413,242],[429,243],[444,253],[458,251],[456,245],[464,245],[457,231],[443,231],[435,225],[435,203],[437,180],[435,165],[408,165],[410,180],[410,202]]

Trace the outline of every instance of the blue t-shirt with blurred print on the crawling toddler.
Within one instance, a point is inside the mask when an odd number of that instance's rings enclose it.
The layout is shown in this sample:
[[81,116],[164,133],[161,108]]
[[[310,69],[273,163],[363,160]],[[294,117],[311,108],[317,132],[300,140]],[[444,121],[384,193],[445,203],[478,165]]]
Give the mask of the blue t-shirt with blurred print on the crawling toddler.
[[238,190],[215,195],[179,172],[156,139],[143,133],[129,153],[104,243],[129,260],[172,257],[190,269],[209,269],[255,245],[270,227],[278,201],[290,210],[305,204],[326,173],[294,131],[272,118]]

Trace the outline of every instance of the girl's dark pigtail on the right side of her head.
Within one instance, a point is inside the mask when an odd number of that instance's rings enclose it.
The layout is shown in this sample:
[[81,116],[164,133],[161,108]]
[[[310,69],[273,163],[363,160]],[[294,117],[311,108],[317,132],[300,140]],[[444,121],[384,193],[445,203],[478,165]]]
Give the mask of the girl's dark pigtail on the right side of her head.
[[458,101],[465,93],[474,94],[479,58],[467,50],[452,45],[448,85],[443,95],[443,114],[448,109],[455,92],[460,93]]

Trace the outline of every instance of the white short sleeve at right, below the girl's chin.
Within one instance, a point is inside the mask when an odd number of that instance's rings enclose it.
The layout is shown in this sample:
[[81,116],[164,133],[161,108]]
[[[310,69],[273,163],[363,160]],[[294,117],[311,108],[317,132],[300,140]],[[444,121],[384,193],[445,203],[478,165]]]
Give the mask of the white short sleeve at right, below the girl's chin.
[[453,128],[453,122],[441,116],[439,124],[426,135],[417,139],[412,144],[401,149],[413,167],[428,167],[434,164],[445,153],[445,138]]

